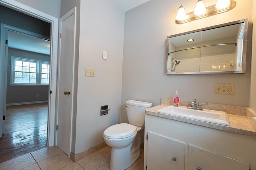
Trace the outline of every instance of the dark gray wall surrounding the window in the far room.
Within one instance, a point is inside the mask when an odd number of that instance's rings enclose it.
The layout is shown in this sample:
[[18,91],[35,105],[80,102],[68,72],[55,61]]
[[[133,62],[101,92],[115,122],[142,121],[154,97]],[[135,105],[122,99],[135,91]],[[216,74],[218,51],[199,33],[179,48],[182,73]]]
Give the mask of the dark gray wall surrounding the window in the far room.
[[[49,55],[8,48],[6,104],[48,100],[48,85],[10,85],[11,56],[49,61]],[[38,98],[36,98],[38,95]]]

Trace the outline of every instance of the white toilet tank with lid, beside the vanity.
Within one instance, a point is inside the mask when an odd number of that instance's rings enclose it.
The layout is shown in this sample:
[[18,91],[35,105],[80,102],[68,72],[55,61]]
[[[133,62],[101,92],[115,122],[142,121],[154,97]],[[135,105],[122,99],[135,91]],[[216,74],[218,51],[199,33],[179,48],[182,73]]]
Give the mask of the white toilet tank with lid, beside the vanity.
[[145,109],[151,107],[152,103],[136,100],[128,100],[125,103],[129,123],[143,127],[145,123]]

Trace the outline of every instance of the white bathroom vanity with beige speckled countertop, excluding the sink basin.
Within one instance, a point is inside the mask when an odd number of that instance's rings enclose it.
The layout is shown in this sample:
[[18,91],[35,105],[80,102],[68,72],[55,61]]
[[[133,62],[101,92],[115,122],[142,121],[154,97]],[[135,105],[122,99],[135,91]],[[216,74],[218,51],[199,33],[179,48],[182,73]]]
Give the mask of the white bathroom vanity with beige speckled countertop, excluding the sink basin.
[[145,111],[144,170],[256,170],[256,131],[246,117],[230,126]]

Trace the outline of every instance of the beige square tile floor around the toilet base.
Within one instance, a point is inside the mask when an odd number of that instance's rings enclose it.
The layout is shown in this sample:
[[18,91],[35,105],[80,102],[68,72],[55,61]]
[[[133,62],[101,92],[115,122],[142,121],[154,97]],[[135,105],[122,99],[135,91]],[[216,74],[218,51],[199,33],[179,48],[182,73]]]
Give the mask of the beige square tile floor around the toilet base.
[[[58,147],[46,147],[0,164],[0,170],[110,170],[110,147],[73,162]],[[143,170],[144,150],[127,170]]]

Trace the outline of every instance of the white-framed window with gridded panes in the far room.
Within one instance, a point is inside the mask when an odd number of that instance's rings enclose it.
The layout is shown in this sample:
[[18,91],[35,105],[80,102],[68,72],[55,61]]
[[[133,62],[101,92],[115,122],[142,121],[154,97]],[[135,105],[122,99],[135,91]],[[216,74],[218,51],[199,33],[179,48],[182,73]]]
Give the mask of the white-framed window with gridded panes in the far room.
[[11,84],[49,84],[50,63],[12,57]]

